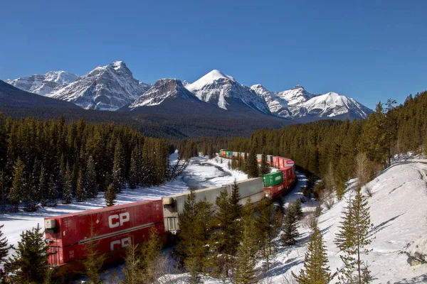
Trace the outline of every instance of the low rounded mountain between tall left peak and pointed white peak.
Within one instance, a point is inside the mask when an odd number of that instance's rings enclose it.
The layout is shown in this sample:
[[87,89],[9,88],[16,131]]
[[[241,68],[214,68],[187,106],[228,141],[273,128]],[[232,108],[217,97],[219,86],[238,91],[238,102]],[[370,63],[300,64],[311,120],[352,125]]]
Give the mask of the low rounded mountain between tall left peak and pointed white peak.
[[130,104],[130,109],[143,106],[155,106],[161,104],[164,99],[181,97],[184,99],[194,98],[194,94],[189,92],[178,79],[158,80],[147,92],[141,94],[135,102]]

